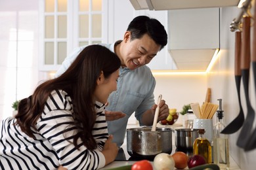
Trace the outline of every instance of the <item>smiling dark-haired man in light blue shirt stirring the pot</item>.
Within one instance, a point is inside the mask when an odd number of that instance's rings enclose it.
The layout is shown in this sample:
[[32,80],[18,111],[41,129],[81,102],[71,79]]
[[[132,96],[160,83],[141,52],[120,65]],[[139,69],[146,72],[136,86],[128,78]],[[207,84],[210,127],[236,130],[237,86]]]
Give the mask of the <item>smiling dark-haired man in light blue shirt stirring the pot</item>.
[[[123,144],[131,114],[140,126],[152,126],[157,105],[154,102],[156,80],[146,64],[167,44],[167,33],[161,23],[148,16],[137,16],[129,24],[122,41],[101,44],[115,52],[121,60],[117,91],[112,92],[106,107],[108,133],[114,135],[117,146]],[[77,48],[65,59],[56,76],[61,75],[85,46]],[[158,121],[169,115],[168,105],[160,102]],[[107,111],[108,110],[108,111]]]

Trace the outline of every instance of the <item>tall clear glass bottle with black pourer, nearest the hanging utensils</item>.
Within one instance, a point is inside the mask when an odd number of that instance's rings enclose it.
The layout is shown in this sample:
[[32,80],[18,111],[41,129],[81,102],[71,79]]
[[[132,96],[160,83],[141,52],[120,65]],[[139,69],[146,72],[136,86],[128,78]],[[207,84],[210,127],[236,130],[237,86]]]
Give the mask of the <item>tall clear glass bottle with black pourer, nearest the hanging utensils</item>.
[[220,169],[229,169],[228,136],[221,133],[225,126],[223,124],[222,99],[218,100],[217,124],[213,127],[213,162],[219,165]]

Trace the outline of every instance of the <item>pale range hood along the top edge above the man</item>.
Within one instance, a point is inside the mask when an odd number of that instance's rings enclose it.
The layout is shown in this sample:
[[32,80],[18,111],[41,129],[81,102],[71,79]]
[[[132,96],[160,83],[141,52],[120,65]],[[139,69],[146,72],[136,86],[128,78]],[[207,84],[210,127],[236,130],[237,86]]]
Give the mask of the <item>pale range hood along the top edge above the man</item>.
[[135,10],[197,9],[237,6],[240,0],[130,0]]

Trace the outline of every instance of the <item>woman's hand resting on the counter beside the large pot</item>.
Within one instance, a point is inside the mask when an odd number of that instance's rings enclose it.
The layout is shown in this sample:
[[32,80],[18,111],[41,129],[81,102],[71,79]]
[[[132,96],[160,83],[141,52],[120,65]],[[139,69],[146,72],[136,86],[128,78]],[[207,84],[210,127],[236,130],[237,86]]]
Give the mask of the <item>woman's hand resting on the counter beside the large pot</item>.
[[105,156],[106,160],[105,165],[108,165],[108,163],[114,161],[118,153],[117,144],[112,143],[112,140],[113,135],[110,135],[110,137],[108,137],[108,140],[106,140],[106,143],[104,144],[104,148],[102,150],[102,154]]

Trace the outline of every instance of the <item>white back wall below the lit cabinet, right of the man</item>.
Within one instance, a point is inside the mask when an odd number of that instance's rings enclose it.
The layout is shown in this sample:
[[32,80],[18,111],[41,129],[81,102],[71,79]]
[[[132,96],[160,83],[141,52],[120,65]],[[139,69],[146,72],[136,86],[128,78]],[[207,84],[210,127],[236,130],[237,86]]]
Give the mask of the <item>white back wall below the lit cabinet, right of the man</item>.
[[169,108],[181,111],[183,105],[205,101],[207,92],[206,74],[200,75],[155,75],[156,89],[154,95],[157,101],[159,94]]

